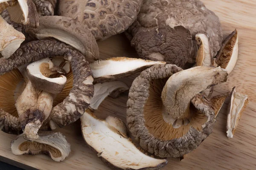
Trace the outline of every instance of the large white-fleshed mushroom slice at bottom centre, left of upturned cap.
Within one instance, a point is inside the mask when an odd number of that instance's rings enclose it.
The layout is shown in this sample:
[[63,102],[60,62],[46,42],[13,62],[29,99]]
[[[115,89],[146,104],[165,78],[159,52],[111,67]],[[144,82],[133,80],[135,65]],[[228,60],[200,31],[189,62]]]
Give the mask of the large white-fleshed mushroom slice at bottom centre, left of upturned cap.
[[109,116],[106,121],[101,120],[87,109],[81,117],[81,128],[85,142],[113,169],[159,170],[167,164],[166,159],[140,152],[127,138],[125,123],[120,119]]

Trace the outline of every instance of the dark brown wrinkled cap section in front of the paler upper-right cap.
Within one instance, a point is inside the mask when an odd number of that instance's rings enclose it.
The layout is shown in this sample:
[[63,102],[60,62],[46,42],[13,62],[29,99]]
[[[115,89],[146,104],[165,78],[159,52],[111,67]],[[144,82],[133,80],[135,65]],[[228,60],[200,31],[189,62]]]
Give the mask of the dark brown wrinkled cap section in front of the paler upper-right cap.
[[165,61],[183,67],[192,50],[192,37],[183,26],[160,26],[141,29],[132,39],[131,45],[142,59]]

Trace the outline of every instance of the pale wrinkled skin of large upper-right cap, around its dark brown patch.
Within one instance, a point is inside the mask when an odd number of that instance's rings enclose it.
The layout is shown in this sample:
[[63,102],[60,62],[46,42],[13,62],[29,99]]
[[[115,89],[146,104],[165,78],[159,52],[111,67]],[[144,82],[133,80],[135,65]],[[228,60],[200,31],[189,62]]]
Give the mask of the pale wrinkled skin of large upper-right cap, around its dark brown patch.
[[[189,29],[194,40],[189,62],[195,61],[194,55],[196,55],[195,49],[197,48],[195,34],[197,33],[206,32],[209,35],[212,56],[215,56],[221,48],[222,31],[220,21],[200,0],[144,0],[137,20],[128,28],[126,34],[128,39],[134,41],[134,38],[140,36],[140,31],[148,31],[153,28],[156,30],[161,26],[170,26],[171,28],[184,26]],[[143,39],[140,38],[140,40]],[[144,42],[144,44],[146,43]],[[149,44],[148,48],[153,46],[157,47],[158,44]],[[140,47],[135,46],[135,48]],[[140,57],[143,56],[140,53],[139,55]],[[182,65],[179,66],[182,67]]]

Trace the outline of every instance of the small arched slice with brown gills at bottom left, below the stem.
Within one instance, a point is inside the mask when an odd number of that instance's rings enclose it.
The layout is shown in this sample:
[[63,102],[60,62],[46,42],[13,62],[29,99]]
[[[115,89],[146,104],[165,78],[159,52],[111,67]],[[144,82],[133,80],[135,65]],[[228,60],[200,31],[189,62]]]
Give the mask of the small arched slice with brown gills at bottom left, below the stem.
[[27,141],[23,135],[11,142],[12,153],[15,155],[47,153],[54,161],[63,161],[70,153],[70,144],[59,132],[41,131],[35,141]]

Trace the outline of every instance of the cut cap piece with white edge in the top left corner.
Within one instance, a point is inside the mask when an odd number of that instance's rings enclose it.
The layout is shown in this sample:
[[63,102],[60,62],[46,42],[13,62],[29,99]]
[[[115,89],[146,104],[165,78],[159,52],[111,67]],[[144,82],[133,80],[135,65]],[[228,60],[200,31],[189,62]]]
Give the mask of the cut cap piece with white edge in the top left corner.
[[0,0],[0,13],[6,8],[15,23],[38,27],[38,13],[33,0]]

